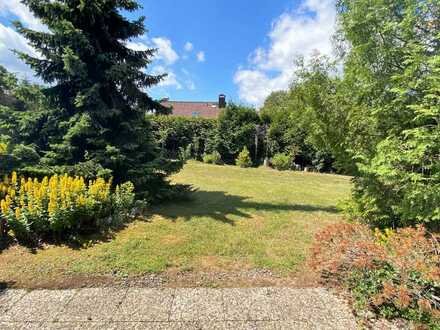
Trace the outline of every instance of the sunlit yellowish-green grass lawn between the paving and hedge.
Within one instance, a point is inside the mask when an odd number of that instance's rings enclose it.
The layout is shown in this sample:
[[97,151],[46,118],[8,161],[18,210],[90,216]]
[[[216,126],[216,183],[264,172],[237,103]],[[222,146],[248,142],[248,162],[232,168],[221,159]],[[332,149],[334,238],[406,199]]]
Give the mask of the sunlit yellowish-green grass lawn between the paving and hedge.
[[303,269],[314,233],[343,221],[336,205],[350,190],[344,176],[198,162],[172,180],[194,185],[194,199],[80,247],[10,246],[0,252],[0,282],[255,268],[290,276]]

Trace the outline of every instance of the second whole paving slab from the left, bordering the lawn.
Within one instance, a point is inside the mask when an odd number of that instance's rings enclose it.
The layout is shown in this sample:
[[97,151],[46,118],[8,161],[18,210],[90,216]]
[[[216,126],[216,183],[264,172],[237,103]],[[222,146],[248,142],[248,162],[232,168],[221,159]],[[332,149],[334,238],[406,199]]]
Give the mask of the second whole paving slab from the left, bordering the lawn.
[[127,289],[81,289],[59,314],[59,322],[111,321],[123,303]]

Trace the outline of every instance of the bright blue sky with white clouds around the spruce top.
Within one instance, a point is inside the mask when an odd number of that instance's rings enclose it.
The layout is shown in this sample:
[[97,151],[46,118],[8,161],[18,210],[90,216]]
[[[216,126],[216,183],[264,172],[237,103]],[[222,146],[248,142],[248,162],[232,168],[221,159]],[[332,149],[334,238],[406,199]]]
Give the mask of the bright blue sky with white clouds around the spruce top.
[[[147,17],[149,33],[130,47],[156,47],[149,67],[168,78],[150,91],[157,98],[229,100],[259,106],[293,78],[298,55],[330,54],[333,0],[142,0],[128,14]],[[33,50],[10,26],[20,19],[44,29],[19,0],[0,0],[0,64],[22,76],[32,73],[8,51]]]

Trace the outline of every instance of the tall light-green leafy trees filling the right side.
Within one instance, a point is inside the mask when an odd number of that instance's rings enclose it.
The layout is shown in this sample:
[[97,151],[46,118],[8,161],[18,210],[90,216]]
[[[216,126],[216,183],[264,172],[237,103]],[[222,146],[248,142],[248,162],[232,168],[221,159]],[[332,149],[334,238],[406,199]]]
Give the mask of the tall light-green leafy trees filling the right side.
[[341,65],[299,61],[289,91],[263,108],[269,135],[288,148],[301,128],[299,145],[330,152],[354,174],[353,217],[438,229],[440,3],[339,0],[337,12]]

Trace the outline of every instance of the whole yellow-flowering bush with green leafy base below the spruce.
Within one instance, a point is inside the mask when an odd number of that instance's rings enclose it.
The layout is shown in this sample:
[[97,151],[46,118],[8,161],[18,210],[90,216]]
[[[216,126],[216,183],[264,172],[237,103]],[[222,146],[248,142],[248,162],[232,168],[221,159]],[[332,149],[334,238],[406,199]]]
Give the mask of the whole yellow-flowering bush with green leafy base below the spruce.
[[61,238],[125,220],[134,203],[130,182],[112,190],[111,180],[82,177],[17,178],[1,184],[0,221],[16,239]]

